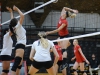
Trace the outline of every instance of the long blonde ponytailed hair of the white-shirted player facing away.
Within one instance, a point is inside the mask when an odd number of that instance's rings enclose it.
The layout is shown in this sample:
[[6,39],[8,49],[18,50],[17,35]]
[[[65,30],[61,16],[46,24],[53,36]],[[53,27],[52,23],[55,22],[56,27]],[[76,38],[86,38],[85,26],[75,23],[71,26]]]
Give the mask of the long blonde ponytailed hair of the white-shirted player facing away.
[[46,37],[46,33],[45,32],[39,32],[38,35],[41,38],[40,44],[42,45],[42,47],[45,48],[45,49],[48,48],[49,42],[46,38],[44,38],[44,37]]

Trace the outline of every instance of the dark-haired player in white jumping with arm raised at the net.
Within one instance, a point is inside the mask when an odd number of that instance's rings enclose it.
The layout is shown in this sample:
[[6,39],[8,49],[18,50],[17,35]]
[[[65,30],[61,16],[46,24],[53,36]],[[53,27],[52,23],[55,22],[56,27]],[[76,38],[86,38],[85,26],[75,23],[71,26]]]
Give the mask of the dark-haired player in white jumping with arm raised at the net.
[[15,46],[15,59],[14,59],[14,64],[11,68],[11,75],[20,75],[20,69],[22,67],[22,62],[23,62],[23,56],[24,56],[24,49],[26,45],[26,30],[23,28],[23,20],[24,20],[24,15],[23,13],[19,10],[18,7],[13,6],[13,10],[17,11],[20,15],[20,19],[17,20],[16,18],[11,19],[10,21],[10,30],[11,32],[15,33],[16,38],[17,38],[17,43]]

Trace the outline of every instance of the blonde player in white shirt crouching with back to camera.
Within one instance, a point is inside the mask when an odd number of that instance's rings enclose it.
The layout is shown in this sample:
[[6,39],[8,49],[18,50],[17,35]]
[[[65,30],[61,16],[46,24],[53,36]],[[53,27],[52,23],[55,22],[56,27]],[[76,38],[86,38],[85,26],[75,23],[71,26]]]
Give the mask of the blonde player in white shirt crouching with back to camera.
[[[46,38],[45,32],[39,32],[38,35],[40,39],[33,43],[30,52],[30,60],[32,60],[32,65],[29,69],[29,74],[34,75],[40,68],[44,67],[49,75],[56,75],[54,66],[58,61],[59,55],[53,42]],[[54,63],[51,59],[50,49],[52,49],[55,55]]]

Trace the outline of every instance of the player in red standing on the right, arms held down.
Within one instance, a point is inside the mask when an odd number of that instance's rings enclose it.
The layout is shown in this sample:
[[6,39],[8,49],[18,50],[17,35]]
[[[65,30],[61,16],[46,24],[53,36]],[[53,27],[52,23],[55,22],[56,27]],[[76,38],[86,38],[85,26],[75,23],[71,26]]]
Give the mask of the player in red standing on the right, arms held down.
[[78,45],[78,40],[77,39],[74,39],[73,45],[74,45],[75,57],[73,57],[71,60],[73,61],[74,59],[76,59],[76,62],[73,66],[74,75],[78,75],[77,72],[76,72],[76,69],[78,68],[78,66],[80,66],[80,72],[83,75],[87,75],[84,71],[84,63],[86,62],[87,64],[89,64],[89,61],[84,56],[81,47]]

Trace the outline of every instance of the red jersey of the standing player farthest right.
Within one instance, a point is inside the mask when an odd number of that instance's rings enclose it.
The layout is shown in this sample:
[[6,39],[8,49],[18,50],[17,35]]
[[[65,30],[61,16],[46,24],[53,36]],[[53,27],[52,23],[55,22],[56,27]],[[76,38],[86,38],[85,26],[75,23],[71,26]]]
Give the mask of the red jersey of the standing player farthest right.
[[79,48],[81,48],[79,45],[74,46],[74,54],[75,54],[75,57],[76,57],[76,61],[78,63],[85,61],[84,58],[82,57],[82,55],[79,52]]

